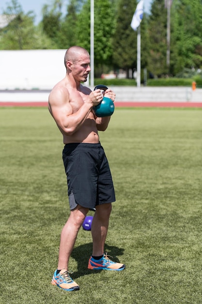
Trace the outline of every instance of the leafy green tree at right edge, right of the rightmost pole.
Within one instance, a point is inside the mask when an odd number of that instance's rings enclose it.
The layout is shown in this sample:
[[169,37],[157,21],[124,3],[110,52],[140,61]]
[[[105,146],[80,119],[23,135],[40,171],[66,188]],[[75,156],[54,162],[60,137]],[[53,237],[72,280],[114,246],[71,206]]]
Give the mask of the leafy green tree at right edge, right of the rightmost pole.
[[202,67],[202,1],[175,0],[171,23],[171,70]]

